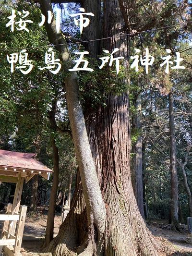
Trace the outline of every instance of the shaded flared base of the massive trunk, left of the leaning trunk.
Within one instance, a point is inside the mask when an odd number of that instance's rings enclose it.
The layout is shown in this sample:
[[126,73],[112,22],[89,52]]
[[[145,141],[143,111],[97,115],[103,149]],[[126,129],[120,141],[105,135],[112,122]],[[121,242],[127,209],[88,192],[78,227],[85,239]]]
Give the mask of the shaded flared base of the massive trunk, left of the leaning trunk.
[[45,250],[46,252],[51,251],[56,256],[75,255],[74,251],[76,251],[79,244],[83,244],[84,237],[88,232],[86,207],[79,171],[77,171],[76,184],[70,213],[60,226],[59,234]]

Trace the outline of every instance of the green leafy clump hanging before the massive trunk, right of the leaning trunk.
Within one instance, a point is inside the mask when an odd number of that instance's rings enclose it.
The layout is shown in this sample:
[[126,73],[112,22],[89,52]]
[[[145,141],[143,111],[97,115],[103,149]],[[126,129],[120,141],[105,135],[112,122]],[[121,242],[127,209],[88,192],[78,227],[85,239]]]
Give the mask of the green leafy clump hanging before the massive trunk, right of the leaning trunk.
[[[110,56],[110,54],[101,56]],[[99,69],[100,61],[92,58],[87,58],[87,60],[89,61],[89,68],[92,68],[94,72],[79,72],[80,97],[84,108],[90,106],[93,109],[97,109],[98,105],[105,107],[109,91],[120,95],[128,90],[128,74],[121,62],[120,72],[117,75],[115,62],[113,62],[112,67],[108,67],[108,63],[106,63],[105,67]]]

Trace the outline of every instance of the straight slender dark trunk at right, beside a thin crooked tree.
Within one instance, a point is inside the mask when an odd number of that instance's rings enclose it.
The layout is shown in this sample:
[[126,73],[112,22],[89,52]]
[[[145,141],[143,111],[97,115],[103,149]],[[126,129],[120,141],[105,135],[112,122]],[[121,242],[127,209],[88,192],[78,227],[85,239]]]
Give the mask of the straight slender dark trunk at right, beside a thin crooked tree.
[[175,122],[173,110],[172,92],[168,94],[169,102],[169,136],[170,136],[170,214],[169,223],[173,230],[179,227],[178,217],[178,177],[177,177],[177,159],[176,159],[176,138],[175,138]]

